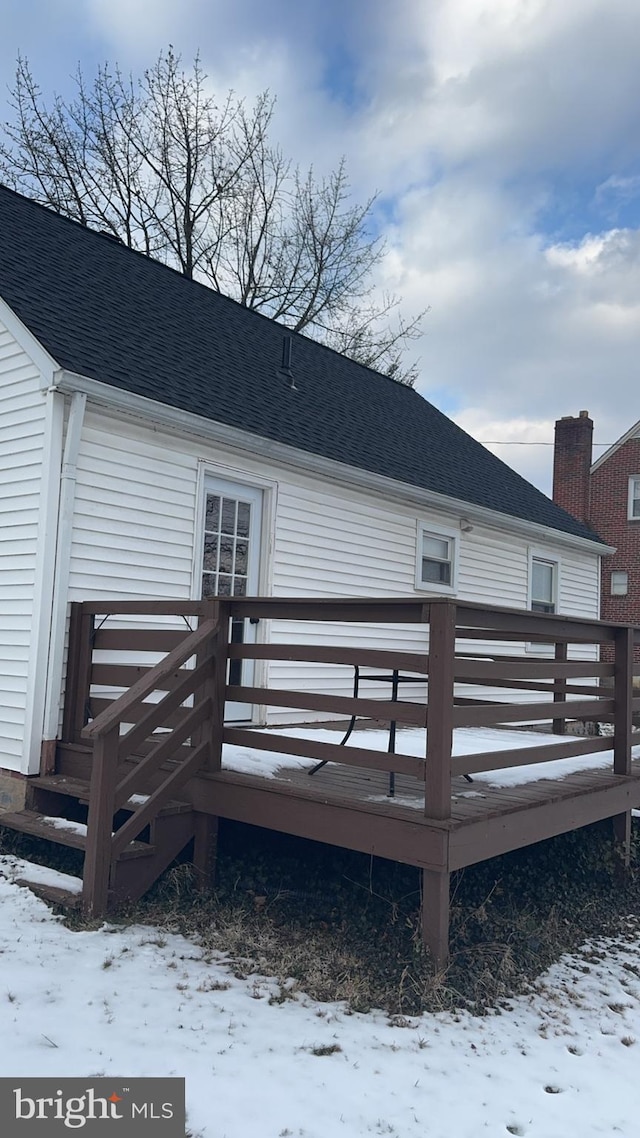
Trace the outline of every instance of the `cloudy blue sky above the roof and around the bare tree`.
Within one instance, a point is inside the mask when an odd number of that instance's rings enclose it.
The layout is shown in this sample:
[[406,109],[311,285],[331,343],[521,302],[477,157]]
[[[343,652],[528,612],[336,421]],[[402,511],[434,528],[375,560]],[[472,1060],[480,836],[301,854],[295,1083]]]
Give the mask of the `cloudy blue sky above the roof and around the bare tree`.
[[[5,0],[2,118],[18,52],[65,93],[79,61],[169,43],[270,88],[296,160],[379,191],[379,286],[429,306],[419,389],[462,427],[549,443],[588,409],[610,443],[640,419],[638,0]],[[550,446],[492,450],[549,490]]]

